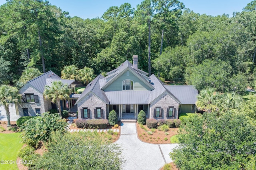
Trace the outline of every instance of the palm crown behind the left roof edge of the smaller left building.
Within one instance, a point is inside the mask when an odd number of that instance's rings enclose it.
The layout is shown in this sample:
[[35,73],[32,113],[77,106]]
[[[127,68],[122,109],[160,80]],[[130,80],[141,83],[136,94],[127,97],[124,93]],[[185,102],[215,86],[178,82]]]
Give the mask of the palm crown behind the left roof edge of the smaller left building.
[[29,80],[32,80],[40,75],[42,75],[42,73],[38,70],[38,68],[27,68],[22,72],[20,82],[26,84],[26,82]]

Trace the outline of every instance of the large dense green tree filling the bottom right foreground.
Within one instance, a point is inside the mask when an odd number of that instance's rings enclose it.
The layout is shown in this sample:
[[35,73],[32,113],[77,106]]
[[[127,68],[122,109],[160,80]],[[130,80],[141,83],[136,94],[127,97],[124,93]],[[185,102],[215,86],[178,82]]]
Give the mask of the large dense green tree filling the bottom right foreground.
[[224,170],[252,165],[256,127],[245,113],[207,113],[188,119],[177,135],[179,146],[170,153],[177,168]]

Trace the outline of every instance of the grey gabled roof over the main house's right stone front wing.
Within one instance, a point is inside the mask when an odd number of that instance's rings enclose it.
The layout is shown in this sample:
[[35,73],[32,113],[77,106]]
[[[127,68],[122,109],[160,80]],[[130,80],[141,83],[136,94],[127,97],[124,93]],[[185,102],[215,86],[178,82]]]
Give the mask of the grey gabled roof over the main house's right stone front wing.
[[154,86],[154,90],[151,91],[151,93],[148,96],[147,102],[150,104],[153,102],[158,96],[163,94],[164,92],[167,92],[176,102],[181,104],[181,102],[176,98],[171,92],[169,92],[165,87],[164,83],[162,83],[154,74],[150,76],[151,78],[151,84]]

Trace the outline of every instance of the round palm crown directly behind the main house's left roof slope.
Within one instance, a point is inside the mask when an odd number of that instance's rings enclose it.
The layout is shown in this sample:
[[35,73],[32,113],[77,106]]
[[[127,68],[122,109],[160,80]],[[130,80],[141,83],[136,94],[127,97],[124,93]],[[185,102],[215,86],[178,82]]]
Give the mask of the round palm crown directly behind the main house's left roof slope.
[[94,70],[89,67],[84,67],[78,72],[78,80],[82,81],[84,84],[88,84],[95,78]]

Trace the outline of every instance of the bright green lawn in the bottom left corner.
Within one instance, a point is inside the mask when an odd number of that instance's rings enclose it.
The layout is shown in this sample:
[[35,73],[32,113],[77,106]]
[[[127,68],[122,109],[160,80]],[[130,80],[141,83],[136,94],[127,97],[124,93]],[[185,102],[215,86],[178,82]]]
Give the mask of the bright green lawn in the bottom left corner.
[[14,164],[0,164],[0,170],[18,170],[17,153],[23,146],[20,133],[0,133],[0,160],[12,160]]

